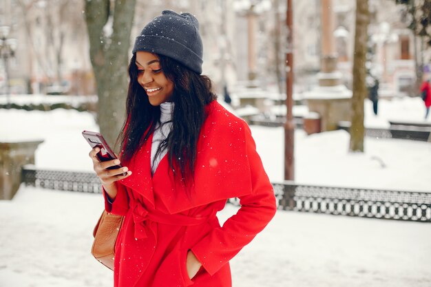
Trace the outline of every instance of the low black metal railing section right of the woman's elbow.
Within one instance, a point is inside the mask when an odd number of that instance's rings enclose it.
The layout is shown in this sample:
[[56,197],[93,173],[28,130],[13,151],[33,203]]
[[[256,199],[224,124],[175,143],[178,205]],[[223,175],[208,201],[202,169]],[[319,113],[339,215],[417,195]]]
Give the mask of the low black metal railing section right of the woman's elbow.
[[431,222],[431,193],[274,183],[280,208],[289,211]]

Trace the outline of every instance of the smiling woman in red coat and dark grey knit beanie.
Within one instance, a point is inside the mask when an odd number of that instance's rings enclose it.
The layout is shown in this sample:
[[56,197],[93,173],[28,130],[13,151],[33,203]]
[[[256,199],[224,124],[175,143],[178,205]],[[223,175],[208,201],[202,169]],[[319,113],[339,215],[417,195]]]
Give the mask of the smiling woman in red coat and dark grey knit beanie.
[[[249,127],[217,103],[201,73],[191,14],[164,11],[136,38],[120,160],[90,152],[105,209],[125,216],[114,286],[231,286],[229,260],[275,214]],[[234,197],[241,208],[220,227],[215,213]]]

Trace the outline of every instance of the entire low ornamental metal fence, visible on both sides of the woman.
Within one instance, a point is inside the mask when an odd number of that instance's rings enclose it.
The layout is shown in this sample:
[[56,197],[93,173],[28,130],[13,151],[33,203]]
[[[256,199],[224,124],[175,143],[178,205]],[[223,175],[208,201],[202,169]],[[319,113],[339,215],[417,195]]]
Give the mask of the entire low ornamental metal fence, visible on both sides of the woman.
[[[25,167],[22,181],[46,189],[101,193],[101,183],[94,173]],[[431,222],[431,193],[319,187],[294,182],[273,183],[273,187],[279,209],[286,211]],[[238,204],[238,199],[229,202]]]

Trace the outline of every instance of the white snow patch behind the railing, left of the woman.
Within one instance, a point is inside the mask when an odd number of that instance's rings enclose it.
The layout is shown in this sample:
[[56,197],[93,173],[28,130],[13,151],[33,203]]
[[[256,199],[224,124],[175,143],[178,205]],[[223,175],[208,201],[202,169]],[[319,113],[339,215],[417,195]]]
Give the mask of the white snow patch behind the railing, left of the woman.
[[81,135],[84,129],[98,131],[95,118],[74,109],[24,111],[0,109],[1,141],[45,140],[36,151],[36,167],[91,171],[89,145]]

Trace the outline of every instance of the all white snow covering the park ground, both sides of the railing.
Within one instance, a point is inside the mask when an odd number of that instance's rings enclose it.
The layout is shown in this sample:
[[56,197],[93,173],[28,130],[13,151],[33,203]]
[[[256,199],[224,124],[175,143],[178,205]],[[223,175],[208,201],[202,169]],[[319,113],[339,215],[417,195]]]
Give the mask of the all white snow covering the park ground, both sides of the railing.
[[[379,116],[421,121],[418,99],[380,100]],[[430,119],[428,119],[429,121]],[[98,131],[86,112],[0,110],[0,142],[43,138],[36,167],[91,171],[83,129]],[[251,127],[271,180],[282,180],[283,130]],[[295,131],[297,182],[431,191],[431,144],[366,138],[348,153],[348,134]],[[0,201],[0,287],[112,286],[112,273],[90,255],[101,195],[21,187]],[[237,209],[220,213],[222,221]],[[232,260],[233,286],[431,286],[429,224],[277,211],[269,226]]]

